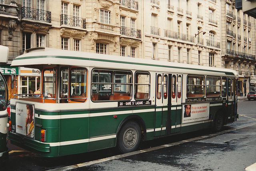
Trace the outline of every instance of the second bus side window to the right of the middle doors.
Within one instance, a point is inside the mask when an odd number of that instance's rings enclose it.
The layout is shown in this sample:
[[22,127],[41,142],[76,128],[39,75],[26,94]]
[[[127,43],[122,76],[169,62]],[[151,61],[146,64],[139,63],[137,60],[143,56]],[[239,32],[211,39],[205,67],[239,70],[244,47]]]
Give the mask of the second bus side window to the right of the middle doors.
[[220,77],[206,77],[206,97],[220,97]]

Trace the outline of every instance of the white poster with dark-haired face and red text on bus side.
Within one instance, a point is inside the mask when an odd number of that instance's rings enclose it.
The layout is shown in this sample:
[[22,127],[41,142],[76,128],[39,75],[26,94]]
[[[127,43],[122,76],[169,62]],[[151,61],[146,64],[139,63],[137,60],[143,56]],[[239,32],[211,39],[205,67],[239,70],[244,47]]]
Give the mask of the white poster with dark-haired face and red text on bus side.
[[197,122],[209,119],[209,103],[183,105],[182,123]]

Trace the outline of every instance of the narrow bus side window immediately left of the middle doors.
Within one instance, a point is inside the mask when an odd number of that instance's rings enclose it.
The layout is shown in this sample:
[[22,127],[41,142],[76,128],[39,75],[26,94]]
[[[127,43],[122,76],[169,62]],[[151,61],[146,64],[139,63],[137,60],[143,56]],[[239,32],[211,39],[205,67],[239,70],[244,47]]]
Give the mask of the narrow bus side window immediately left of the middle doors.
[[150,74],[148,72],[135,73],[135,100],[148,100],[150,96]]

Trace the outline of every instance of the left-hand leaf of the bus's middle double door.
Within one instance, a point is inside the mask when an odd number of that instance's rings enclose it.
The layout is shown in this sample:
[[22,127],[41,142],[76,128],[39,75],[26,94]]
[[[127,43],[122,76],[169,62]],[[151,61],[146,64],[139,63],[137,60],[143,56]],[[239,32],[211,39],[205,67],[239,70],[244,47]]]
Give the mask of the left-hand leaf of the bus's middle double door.
[[166,135],[168,118],[168,74],[156,74],[154,137]]

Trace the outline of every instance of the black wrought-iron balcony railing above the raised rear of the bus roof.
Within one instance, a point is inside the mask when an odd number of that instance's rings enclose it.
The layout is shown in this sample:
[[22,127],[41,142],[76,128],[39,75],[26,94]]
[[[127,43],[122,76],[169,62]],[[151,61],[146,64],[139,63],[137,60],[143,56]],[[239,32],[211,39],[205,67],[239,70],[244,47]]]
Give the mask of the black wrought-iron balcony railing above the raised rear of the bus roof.
[[30,7],[21,7],[21,19],[29,19],[51,23],[52,14],[50,11],[39,10]]

